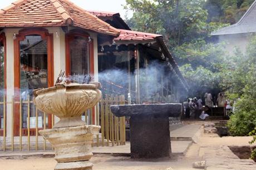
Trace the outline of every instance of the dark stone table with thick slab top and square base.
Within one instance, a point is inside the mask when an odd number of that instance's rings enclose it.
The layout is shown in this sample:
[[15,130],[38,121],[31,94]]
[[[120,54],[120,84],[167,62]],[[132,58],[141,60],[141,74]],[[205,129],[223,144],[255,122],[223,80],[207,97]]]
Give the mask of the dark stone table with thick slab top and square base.
[[169,117],[179,117],[181,108],[181,104],[130,104],[110,107],[117,117],[130,116],[132,158],[170,157]]

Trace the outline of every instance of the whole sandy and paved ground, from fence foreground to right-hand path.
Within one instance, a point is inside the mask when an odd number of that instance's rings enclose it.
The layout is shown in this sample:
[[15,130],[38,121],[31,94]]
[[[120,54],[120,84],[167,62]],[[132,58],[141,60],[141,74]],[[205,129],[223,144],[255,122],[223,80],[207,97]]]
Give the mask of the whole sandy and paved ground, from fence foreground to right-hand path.
[[[163,170],[189,170],[193,168],[194,162],[205,161],[206,170],[254,170],[255,163],[248,159],[239,159],[230,151],[228,146],[245,146],[252,137],[218,137],[204,134],[201,124],[205,121],[186,122],[184,126],[173,128],[171,136],[176,141],[171,142],[173,156],[170,159],[131,159],[129,157],[129,143],[119,147],[93,148],[95,156],[91,159],[95,164],[93,169],[163,169]],[[201,133],[200,133],[201,132]],[[194,133],[194,134],[193,134]],[[193,142],[190,141],[193,139]],[[190,146],[190,147],[188,147]],[[97,151],[97,149],[99,151]],[[176,151],[175,151],[176,149]],[[101,153],[100,153],[101,152]],[[122,154],[119,154],[122,152]],[[0,169],[2,170],[48,170],[53,169],[56,161],[52,158],[53,152],[41,152],[38,157],[28,156],[19,160],[22,154],[16,153],[12,159],[0,158]],[[103,154],[102,154],[103,153]],[[112,154],[104,154],[112,153]],[[183,153],[183,154],[182,154]],[[4,153],[8,154],[8,153]],[[12,153],[9,153],[11,156]],[[31,152],[29,152],[31,154]],[[0,152],[0,157],[3,156]],[[47,158],[49,157],[50,158]],[[14,158],[14,159],[13,159]]]

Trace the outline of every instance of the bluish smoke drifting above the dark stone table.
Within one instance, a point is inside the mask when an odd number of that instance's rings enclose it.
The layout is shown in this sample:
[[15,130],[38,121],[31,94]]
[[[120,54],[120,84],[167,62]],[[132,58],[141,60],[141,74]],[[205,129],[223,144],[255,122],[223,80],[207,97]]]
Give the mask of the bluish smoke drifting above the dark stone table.
[[[129,70],[131,70],[129,72]],[[142,102],[179,102],[178,87],[165,64],[153,61],[137,69],[107,69],[99,73],[102,93],[113,95],[131,95],[136,102],[140,96]],[[138,91],[138,86],[140,86]]]

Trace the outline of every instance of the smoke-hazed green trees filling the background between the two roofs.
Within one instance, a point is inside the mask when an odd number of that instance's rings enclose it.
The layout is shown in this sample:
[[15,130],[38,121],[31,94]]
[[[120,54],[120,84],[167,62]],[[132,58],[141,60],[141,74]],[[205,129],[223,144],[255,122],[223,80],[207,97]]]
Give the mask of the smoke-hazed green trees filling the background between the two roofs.
[[[223,44],[211,43],[210,33],[237,22],[252,3],[253,0],[126,0],[125,8],[134,11],[127,21],[132,29],[164,35],[190,84],[191,95],[199,96],[200,88],[223,91],[232,85],[219,78],[230,77],[227,69],[234,68]],[[238,51],[233,57],[234,62],[242,57],[239,54]],[[237,74],[240,77],[239,71]],[[234,81],[242,82],[237,86],[242,90],[243,81]]]

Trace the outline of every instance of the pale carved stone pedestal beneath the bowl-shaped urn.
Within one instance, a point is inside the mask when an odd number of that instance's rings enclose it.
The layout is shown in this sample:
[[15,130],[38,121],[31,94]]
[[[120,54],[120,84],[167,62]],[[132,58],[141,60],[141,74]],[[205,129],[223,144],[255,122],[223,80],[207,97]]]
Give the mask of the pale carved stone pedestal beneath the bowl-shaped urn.
[[86,125],[41,130],[39,133],[55,148],[55,170],[92,169],[91,143],[100,126]]

